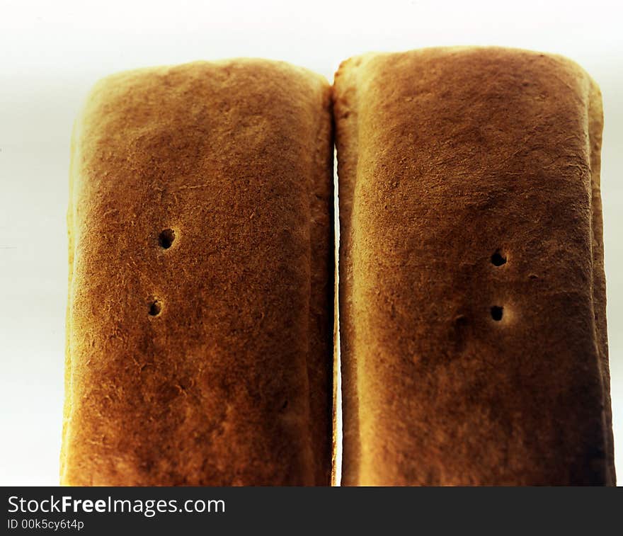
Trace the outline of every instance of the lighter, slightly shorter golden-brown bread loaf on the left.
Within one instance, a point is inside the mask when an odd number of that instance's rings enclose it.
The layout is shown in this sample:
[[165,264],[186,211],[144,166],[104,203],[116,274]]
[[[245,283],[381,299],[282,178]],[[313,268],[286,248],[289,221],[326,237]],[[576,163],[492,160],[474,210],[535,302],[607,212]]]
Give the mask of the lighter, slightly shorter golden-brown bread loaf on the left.
[[328,485],[331,88],[235,59],[99,82],[69,207],[68,485]]

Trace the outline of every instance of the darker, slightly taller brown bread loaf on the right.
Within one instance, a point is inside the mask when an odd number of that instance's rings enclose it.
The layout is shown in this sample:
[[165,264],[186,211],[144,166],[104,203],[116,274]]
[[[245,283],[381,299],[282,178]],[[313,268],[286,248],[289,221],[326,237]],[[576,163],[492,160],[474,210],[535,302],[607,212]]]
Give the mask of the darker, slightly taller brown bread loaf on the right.
[[343,62],[334,110],[342,483],[615,484],[598,86],[433,48]]

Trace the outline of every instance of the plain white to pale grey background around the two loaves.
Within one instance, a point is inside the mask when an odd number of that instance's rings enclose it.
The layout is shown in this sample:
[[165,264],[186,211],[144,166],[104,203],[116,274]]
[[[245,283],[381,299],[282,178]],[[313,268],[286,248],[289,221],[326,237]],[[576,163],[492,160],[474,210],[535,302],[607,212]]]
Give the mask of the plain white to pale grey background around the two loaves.
[[256,56],[329,80],[369,50],[557,52],[601,86],[615,446],[623,481],[623,32],[618,2],[0,0],[0,484],[57,484],[67,166],[89,87],[122,69]]

